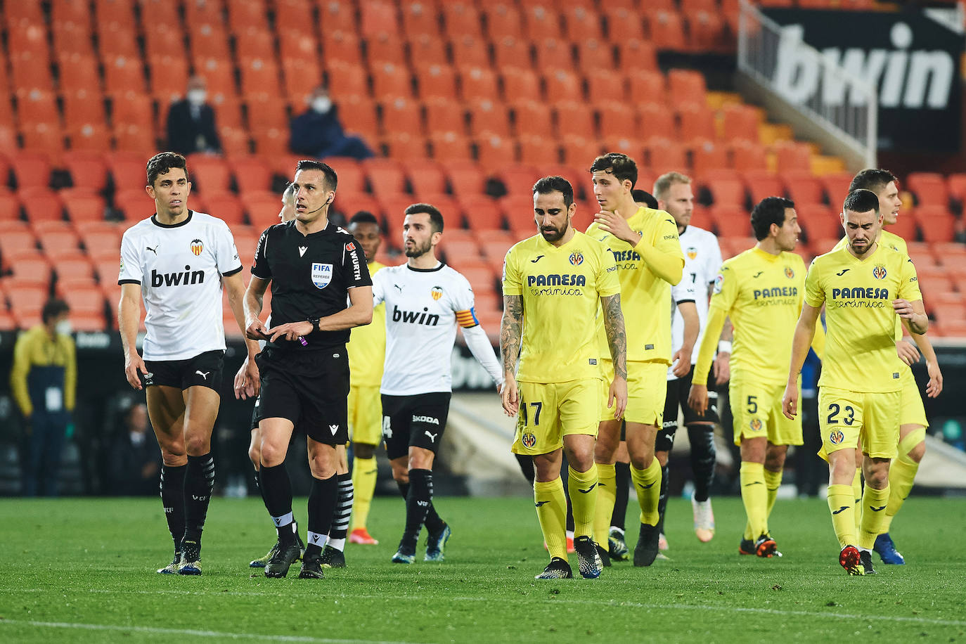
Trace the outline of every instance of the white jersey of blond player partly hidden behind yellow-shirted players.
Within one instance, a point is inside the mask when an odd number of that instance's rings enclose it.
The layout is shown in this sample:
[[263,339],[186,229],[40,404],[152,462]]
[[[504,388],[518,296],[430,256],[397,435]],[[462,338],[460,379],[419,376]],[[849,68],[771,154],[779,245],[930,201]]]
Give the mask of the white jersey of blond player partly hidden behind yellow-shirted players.
[[[693,299],[697,307],[697,318],[700,321],[695,349],[691,353],[691,364],[696,364],[697,352],[704,335],[704,324],[708,319],[711,285],[718,277],[718,271],[722,266],[722,250],[718,245],[718,238],[703,228],[688,226],[678,237],[681,240],[681,250],[684,252],[684,273],[678,285],[671,289],[671,351],[681,349],[684,343],[684,318],[677,310],[676,303]],[[668,367],[668,380],[674,378]]]

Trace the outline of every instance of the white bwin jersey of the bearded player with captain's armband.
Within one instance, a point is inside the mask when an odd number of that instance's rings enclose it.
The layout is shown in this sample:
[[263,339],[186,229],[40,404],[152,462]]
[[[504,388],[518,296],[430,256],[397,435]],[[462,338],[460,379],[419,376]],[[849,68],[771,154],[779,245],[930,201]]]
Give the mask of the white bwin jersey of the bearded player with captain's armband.
[[456,327],[479,323],[467,278],[443,264],[386,266],[372,276],[372,294],[374,304],[385,302],[380,392],[412,396],[452,391]]

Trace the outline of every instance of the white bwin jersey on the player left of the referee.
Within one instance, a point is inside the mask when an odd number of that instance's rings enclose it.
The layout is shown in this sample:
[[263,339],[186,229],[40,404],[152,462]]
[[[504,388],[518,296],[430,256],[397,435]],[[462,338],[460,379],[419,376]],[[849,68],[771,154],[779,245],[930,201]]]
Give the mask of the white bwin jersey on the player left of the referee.
[[241,271],[232,232],[221,219],[188,210],[166,226],[156,215],[139,221],[121,240],[118,284],[140,284],[148,315],[145,360],[185,360],[225,350],[221,276]]

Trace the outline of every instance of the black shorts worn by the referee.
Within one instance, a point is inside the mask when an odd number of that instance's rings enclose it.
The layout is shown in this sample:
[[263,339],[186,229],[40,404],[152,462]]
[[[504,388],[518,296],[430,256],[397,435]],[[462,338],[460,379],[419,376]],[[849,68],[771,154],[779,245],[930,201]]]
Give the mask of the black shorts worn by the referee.
[[262,393],[252,420],[285,418],[301,434],[327,445],[349,441],[346,399],[349,358],[344,347],[291,351],[266,348],[255,356]]

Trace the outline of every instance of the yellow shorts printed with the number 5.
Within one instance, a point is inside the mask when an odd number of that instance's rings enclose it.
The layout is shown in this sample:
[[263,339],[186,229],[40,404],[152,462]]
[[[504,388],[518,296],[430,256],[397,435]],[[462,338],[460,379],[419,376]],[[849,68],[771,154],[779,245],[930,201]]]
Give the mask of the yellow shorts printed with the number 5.
[[[734,419],[734,444],[740,445],[742,438],[764,436],[773,445],[802,444],[802,414],[788,420],[781,412],[783,384],[762,384],[760,382],[737,382],[731,380],[728,401],[731,417]],[[802,385],[798,387],[799,400],[802,398]]]

